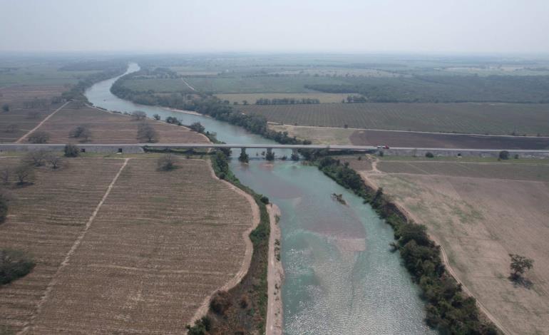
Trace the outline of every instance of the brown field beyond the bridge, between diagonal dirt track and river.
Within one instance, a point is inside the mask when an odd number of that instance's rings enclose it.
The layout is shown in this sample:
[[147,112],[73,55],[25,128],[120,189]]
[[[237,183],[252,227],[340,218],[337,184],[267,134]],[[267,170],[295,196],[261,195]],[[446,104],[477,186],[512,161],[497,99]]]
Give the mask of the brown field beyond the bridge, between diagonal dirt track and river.
[[[162,143],[207,143],[204,135],[195,133],[185,127],[170,125],[155,120],[145,120],[158,132],[158,142]],[[84,106],[76,108],[69,103],[55,115],[46,120],[38,130],[51,135],[49,143],[140,143],[138,125],[140,121],[129,115],[109,113],[96,108]],[[88,140],[71,138],[71,130],[79,125],[86,125],[91,132]]]

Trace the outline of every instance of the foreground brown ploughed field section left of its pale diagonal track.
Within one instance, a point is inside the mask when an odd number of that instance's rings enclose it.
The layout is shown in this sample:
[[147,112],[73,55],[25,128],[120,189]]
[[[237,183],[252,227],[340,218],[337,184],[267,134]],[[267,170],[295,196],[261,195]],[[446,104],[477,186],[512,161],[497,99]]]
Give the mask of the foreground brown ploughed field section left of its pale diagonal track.
[[[19,161],[0,158],[0,165],[15,166]],[[9,217],[0,225],[0,245],[29,252],[36,267],[26,277],[0,287],[1,326],[16,331],[30,321],[122,163],[73,159],[61,170],[38,169],[34,185],[12,190]]]

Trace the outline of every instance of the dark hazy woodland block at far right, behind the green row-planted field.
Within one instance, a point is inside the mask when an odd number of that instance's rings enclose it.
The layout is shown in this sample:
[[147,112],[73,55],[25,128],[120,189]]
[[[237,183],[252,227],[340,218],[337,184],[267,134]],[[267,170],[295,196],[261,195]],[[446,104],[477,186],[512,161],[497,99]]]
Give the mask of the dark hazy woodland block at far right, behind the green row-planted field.
[[414,76],[346,78],[305,85],[326,93],[359,93],[378,103],[549,103],[549,76]]

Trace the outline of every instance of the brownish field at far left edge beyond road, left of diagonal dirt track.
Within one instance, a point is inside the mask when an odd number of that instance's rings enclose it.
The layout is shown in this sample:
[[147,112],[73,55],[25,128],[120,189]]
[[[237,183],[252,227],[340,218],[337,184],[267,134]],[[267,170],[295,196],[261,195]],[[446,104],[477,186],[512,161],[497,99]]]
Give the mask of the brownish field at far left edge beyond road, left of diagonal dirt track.
[[[47,115],[56,110],[61,103],[47,105],[44,108],[27,108],[26,102],[36,99],[50,101],[66,91],[63,86],[9,86],[0,89],[0,108],[4,104],[9,112],[0,110],[0,143],[15,142],[26,132],[38,125]],[[9,125],[16,125],[15,131],[8,131]]]

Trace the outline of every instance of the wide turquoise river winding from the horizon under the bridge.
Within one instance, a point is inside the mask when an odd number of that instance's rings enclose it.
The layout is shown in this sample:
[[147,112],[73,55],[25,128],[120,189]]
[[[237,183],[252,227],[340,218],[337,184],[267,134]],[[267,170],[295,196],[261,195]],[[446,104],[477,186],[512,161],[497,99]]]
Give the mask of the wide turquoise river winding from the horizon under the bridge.
[[[131,63],[126,73],[138,69]],[[117,79],[89,88],[88,100],[108,110],[143,110],[149,117],[200,122],[226,143],[273,143],[202,115],[117,98],[110,92]],[[253,150],[248,153],[257,157]],[[424,322],[419,287],[398,252],[391,252],[391,227],[361,198],[317,168],[300,163],[252,159],[242,164],[232,159],[230,168],[243,184],[267,195],[282,211],[284,334],[436,334]],[[332,200],[334,192],[341,193],[347,205]]]

